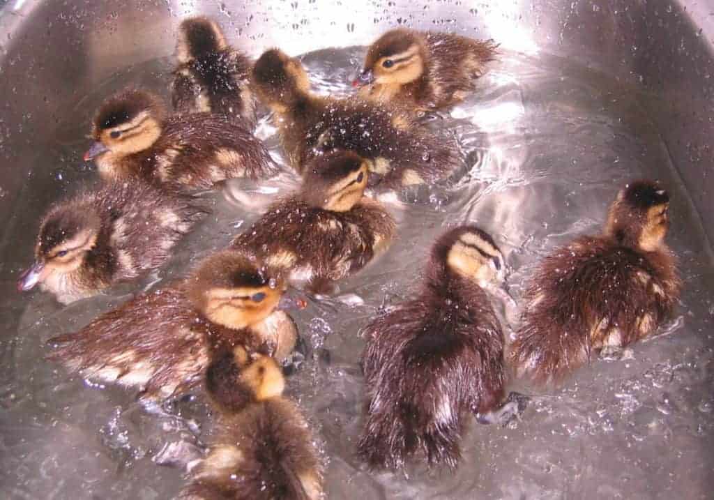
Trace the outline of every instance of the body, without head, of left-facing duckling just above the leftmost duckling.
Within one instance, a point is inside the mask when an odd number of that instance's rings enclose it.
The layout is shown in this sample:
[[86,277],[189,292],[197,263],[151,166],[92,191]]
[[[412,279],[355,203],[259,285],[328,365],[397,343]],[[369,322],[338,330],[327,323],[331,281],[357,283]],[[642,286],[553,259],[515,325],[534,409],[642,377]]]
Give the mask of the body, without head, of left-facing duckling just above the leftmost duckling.
[[154,175],[163,184],[211,189],[226,179],[266,178],[278,169],[246,126],[220,114],[174,116],[154,149]]

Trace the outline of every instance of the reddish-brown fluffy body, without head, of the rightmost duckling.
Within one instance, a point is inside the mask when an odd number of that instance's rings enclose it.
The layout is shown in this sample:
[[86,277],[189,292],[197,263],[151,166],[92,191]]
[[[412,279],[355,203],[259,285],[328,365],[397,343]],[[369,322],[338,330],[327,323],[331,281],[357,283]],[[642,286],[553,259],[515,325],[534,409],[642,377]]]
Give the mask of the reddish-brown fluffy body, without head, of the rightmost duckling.
[[593,349],[642,339],[671,316],[679,289],[668,254],[602,238],[573,241],[533,274],[511,346],[517,373],[558,381],[589,361]]

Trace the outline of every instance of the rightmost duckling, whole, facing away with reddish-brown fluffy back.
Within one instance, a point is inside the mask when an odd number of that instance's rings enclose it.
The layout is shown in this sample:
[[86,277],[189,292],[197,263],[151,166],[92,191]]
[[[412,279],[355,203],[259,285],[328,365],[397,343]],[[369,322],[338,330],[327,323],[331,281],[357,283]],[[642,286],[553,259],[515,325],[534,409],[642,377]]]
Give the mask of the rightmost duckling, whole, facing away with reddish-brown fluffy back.
[[593,351],[628,346],[671,318],[682,283],[665,244],[668,209],[660,184],[631,182],[603,234],[580,236],[539,264],[509,354],[516,375],[561,381]]

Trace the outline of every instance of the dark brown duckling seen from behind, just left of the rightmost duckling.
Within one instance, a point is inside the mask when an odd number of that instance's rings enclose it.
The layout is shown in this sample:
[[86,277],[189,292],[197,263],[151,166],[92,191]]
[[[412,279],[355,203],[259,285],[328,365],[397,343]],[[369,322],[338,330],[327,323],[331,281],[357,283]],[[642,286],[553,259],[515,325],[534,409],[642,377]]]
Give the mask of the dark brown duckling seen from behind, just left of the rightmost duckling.
[[366,417],[358,454],[398,469],[422,454],[456,468],[466,414],[503,400],[503,333],[486,292],[503,280],[503,254],[473,225],[447,231],[431,250],[416,298],[366,327]]

